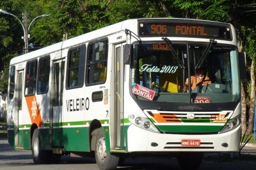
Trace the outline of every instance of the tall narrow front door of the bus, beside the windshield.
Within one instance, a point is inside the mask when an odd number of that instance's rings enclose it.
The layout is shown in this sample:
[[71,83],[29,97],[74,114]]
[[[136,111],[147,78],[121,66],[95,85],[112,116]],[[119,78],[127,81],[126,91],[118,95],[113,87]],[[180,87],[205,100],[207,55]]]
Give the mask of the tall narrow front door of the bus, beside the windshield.
[[113,104],[113,113],[111,114],[111,121],[114,122],[114,124],[111,124],[112,131],[114,135],[111,135],[112,141],[112,148],[113,149],[124,149],[124,111],[123,111],[123,82],[124,82],[124,68],[122,65],[122,48],[123,45],[115,45],[115,52],[114,55],[114,104]]

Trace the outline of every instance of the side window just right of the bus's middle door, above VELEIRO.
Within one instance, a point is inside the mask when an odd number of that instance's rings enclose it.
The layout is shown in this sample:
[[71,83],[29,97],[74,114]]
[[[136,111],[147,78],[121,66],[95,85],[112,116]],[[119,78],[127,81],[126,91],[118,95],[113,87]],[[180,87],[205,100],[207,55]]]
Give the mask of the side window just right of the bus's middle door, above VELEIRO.
[[68,51],[67,88],[82,87],[84,83],[85,45]]

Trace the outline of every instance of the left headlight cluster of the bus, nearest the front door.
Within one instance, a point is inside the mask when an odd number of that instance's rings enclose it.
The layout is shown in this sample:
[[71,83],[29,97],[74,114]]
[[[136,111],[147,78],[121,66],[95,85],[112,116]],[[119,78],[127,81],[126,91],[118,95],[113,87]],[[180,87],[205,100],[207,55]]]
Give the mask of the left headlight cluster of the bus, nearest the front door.
[[157,132],[160,133],[158,131],[158,129],[156,128],[156,126],[154,124],[152,124],[152,122],[150,120],[148,120],[148,118],[144,118],[144,117],[140,117],[138,115],[129,115],[129,120],[130,122],[132,122],[132,124],[145,129],[147,131],[150,132]]

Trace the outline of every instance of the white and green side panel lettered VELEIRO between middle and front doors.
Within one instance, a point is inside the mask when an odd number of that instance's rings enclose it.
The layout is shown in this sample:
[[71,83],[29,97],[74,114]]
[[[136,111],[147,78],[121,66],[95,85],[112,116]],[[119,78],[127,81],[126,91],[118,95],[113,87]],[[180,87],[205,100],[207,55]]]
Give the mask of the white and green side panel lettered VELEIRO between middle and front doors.
[[[102,92],[103,85],[95,85],[63,92],[63,143],[66,151],[90,152],[92,120],[108,125],[108,104],[92,101],[93,92]],[[86,93],[85,93],[86,92]],[[107,117],[107,118],[106,118]],[[106,141],[109,145],[109,141]]]

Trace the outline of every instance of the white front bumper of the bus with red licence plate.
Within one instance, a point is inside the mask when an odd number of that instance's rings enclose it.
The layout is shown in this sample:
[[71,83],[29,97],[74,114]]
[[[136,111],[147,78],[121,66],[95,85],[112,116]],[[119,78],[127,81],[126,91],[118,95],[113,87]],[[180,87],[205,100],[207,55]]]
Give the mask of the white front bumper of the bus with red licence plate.
[[131,124],[127,152],[239,152],[241,126],[223,134],[160,134]]

